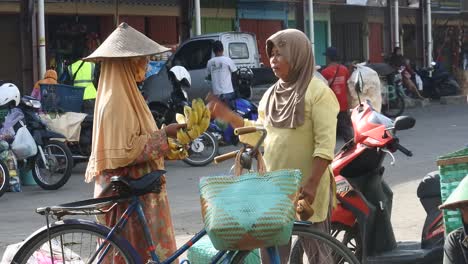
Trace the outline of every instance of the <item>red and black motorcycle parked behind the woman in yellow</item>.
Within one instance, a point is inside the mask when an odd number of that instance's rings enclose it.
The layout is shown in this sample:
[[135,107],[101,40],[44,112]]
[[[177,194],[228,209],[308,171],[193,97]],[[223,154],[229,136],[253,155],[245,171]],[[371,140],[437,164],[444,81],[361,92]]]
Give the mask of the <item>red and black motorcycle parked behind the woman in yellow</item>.
[[338,206],[332,212],[332,234],[362,263],[442,263],[444,225],[437,175],[420,183],[418,196],[427,217],[421,242],[397,242],[391,223],[393,192],[383,180],[386,156],[401,151],[396,132],[412,128],[412,117],[395,121],[374,111],[368,103],[353,110],[354,140],[346,143],[332,162]]

